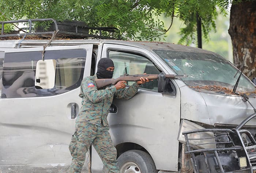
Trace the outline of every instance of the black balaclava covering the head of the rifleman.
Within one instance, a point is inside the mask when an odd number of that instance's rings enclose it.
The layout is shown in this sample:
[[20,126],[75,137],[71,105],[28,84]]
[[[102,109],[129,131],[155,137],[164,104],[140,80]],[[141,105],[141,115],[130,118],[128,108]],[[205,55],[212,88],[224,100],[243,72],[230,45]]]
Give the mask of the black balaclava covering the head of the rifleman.
[[98,79],[103,79],[103,78],[112,78],[113,77],[113,72],[110,72],[107,70],[109,67],[114,67],[114,63],[111,59],[109,58],[102,58],[98,62],[98,70],[97,70],[97,77]]

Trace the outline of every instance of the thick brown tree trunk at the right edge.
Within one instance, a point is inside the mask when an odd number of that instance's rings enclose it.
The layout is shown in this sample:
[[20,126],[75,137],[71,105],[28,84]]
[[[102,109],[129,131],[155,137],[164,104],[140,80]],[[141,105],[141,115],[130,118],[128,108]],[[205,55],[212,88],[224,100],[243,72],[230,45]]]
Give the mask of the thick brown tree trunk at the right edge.
[[256,2],[232,4],[229,35],[233,45],[234,65],[249,78],[256,77]]

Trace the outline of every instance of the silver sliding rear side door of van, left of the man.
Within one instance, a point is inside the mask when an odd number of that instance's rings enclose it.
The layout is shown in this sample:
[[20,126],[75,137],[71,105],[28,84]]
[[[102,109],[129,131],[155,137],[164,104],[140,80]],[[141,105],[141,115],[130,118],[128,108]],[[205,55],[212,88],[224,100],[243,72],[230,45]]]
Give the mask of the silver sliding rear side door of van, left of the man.
[[59,170],[70,165],[68,145],[81,106],[80,83],[91,72],[92,49],[46,47],[44,59],[42,48],[5,51],[1,170]]

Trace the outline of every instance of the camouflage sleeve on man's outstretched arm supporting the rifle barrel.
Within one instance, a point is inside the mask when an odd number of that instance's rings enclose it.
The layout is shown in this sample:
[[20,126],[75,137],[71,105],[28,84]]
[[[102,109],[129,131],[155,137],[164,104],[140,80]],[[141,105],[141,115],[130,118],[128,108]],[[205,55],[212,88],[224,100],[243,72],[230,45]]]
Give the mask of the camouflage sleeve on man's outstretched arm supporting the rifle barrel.
[[114,93],[114,97],[116,97],[117,99],[131,99],[137,92],[139,89],[139,85],[137,84],[137,82],[134,82],[131,86],[129,86],[129,88],[124,88],[124,89],[118,89],[115,93]]

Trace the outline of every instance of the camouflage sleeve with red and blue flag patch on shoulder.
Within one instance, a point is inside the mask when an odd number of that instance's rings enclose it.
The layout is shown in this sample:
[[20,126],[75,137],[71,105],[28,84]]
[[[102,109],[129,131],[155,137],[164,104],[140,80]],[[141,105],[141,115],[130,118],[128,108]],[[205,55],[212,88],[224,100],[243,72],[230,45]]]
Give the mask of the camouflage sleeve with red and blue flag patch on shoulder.
[[103,99],[111,97],[116,92],[115,86],[110,86],[105,89],[98,90],[93,80],[87,78],[81,84],[84,95],[93,103],[98,103]]

